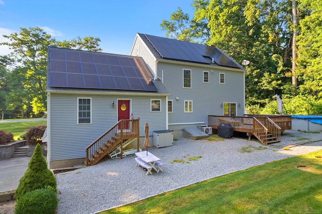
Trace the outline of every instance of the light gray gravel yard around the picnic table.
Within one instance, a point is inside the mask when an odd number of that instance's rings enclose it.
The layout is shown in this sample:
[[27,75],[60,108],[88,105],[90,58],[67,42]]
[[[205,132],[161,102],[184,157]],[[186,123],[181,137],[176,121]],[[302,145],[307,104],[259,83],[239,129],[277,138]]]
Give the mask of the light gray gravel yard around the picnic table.
[[[304,138],[304,139],[303,139]],[[306,139],[305,139],[306,138]],[[145,175],[134,156],[108,159],[95,166],[56,174],[57,213],[94,213],[141,200],[223,174],[322,149],[322,133],[285,131],[283,145],[263,146],[257,141],[230,138],[220,142],[180,138],[174,146],[149,152],[164,163],[164,172]],[[283,146],[297,145],[290,150]],[[303,145],[300,145],[303,144]],[[248,147],[252,152],[241,152]],[[261,149],[266,148],[266,149]],[[189,157],[202,156],[186,163]],[[171,163],[183,159],[185,163]]]

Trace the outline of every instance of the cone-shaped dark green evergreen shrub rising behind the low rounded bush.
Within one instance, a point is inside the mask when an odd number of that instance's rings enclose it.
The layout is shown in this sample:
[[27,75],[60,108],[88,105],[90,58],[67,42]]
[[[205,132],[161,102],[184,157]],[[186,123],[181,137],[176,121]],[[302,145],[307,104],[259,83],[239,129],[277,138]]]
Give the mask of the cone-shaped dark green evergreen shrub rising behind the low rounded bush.
[[53,173],[47,168],[40,144],[37,144],[28,163],[28,169],[20,179],[15,197],[19,200],[26,192],[45,188],[46,186],[56,189],[56,180]]

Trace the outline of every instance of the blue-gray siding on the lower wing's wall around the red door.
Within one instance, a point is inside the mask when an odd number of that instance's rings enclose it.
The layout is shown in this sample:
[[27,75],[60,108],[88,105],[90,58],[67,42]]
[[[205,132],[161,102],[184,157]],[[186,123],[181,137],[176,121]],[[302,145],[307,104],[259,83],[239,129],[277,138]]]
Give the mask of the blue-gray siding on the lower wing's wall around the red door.
[[[92,123],[77,124],[77,97],[92,98]],[[140,118],[140,136],[145,122],[153,130],[166,129],[166,97],[111,96],[50,93],[50,161],[86,157],[86,147],[117,123],[117,108],[112,102],[131,99],[131,112]],[[162,99],[162,112],[150,112],[150,99]]]

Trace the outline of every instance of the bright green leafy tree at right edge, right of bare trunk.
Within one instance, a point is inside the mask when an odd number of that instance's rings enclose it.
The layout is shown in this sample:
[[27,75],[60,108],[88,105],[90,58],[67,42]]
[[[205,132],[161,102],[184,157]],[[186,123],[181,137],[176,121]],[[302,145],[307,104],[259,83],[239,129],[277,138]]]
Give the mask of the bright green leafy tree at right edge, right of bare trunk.
[[299,21],[296,74],[302,95],[322,99],[322,2],[302,0],[299,9],[305,17]]

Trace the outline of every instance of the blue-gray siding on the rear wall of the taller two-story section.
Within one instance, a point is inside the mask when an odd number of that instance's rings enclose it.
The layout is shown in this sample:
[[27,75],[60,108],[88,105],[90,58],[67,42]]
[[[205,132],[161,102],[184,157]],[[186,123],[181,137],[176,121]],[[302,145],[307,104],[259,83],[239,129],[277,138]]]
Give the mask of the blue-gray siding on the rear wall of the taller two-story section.
[[[180,64],[158,63],[158,73],[163,71],[163,83],[171,93],[173,113],[169,113],[169,129],[196,127],[196,125],[171,125],[179,123],[208,124],[208,115],[223,115],[220,103],[236,103],[236,115],[244,115],[244,73],[186,66]],[[191,70],[191,88],[183,88],[183,69]],[[209,83],[203,82],[203,71],[209,71]],[[219,84],[219,73],[225,73],[225,84]],[[179,100],[176,100],[179,97]],[[193,100],[193,112],[184,113],[184,100]],[[241,107],[238,108],[238,103]]]

